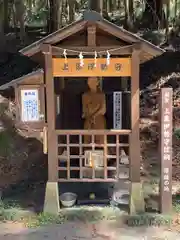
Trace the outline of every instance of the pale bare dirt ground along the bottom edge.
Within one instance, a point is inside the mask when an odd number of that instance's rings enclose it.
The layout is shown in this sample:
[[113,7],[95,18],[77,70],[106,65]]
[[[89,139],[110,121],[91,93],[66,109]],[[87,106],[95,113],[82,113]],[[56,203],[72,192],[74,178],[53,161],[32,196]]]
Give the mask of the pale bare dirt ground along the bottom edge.
[[159,227],[119,227],[117,222],[99,224],[69,222],[38,229],[17,223],[0,225],[1,240],[180,240],[177,231]]

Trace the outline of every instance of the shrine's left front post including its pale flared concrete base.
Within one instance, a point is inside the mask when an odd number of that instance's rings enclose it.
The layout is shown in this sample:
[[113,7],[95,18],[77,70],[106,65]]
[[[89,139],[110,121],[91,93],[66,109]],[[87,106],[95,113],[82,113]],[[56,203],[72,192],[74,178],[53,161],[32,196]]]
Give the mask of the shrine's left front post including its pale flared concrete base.
[[50,45],[43,45],[42,51],[45,59],[45,86],[46,86],[46,111],[48,128],[48,182],[44,211],[57,214],[59,212],[58,192],[58,156],[57,137],[55,133],[55,94],[52,72],[52,52]]

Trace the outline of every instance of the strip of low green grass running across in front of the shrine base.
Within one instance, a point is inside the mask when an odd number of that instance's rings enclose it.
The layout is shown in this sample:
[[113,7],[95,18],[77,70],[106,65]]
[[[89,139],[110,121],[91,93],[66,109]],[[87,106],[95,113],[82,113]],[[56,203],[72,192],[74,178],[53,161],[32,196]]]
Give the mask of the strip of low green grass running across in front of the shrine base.
[[[176,213],[180,212],[180,204],[174,204]],[[0,221],[21,221],[29,228],[37,228],[50,224],[62,224],[66,221],[100,222],[117,221],[124,222],[130,227],[139,226],[170,226],[173,224],[173,215],[139,214],[126,215],[118,208],[112,207],[77,207],[62,209],[59,215],[48,213],[31,214],[24,211],[17,203],[0,202]]]

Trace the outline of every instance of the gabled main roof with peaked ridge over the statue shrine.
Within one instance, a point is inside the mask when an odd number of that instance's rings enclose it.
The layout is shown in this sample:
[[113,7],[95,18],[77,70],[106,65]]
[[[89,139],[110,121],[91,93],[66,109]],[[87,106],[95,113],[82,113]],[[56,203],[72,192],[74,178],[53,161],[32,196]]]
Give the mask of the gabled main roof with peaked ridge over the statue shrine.
[[95,11],[84,12],[83,17],[80,20],[75,21],[70,25],[61,28],[58,31],[32,43],[31,45],[21,49],[20,52],[26,56],[32,56],[35,53],[41,51],[42,44],[57,44],[69,36],[72,36],[73,34],[76,34],[83,29],[85,30],[88,26],[88,23],[92,22],[97,26],[97,28],[105,31],[107,34],[112,35],[112,37],[114,36],[120,40],[127,42],[128,44],[140,42],[142,45],[142,50],[147,53],[145,54],[147,55],[145,56],[147,58],[146,61],[165,52],[165,50],[146,41],[137,34],[127,31],[123,27],[117,26],[110,21],[107,21]]

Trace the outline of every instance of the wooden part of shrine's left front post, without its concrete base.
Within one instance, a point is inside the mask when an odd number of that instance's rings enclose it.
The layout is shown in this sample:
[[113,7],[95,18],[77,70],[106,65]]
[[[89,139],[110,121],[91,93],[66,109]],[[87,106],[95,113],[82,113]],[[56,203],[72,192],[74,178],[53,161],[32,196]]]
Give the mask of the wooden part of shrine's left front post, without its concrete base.
[[57,137],[55,134],[55,97],[52,72],[52,51],[50,45],[43,45],[45,58],[46,111],[48,127],[48,181],[58,181]]

